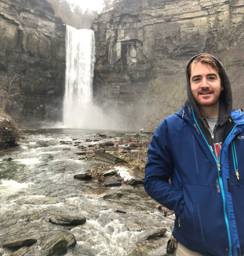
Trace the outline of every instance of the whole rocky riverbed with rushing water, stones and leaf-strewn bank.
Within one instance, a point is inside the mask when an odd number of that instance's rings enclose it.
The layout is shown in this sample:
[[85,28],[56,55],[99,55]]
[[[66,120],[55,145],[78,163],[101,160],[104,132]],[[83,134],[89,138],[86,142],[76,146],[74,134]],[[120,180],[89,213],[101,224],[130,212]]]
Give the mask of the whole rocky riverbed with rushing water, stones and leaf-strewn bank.
[[152,133],[25,131],[0,154],[0,255],[167,255],[143,188]]

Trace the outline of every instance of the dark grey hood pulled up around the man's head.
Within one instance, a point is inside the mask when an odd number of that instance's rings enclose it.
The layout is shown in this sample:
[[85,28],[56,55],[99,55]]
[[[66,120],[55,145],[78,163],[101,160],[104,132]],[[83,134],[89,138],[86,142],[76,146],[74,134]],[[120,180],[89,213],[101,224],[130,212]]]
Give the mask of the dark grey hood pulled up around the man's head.
[[[194,110],[195,115],[198,117],[198,119],[202,119],[202,116],[198,110],[198,107],[196,105],[195,99],[192,95],[191,92],[191,86],[190,86],[190,79],[188,77],[188,67],[190,63],[195,59],[196,56],[201,55],[197,54],[194,57],[192,57],[189,62],[187,63],[186,66],[186,86],[187,86],[187,98],[185,101],[185,105],[192,105],[192,108]],[[212,56],[213,57],[213,56]],[[232,111],[232,93],[231,93],[231,85],[230,85],[230,80],[229,77],[226,73],[226,70],[222,63],[213,57],[219,65],[220,68],[220,80],[221,80],[221,85],[224,87],[224,90],[221,91],[220,97],[219,97],[219,114],[218,114],[218,123],[220,125],[223,125],[227,120],[230,118],[230,114]]]

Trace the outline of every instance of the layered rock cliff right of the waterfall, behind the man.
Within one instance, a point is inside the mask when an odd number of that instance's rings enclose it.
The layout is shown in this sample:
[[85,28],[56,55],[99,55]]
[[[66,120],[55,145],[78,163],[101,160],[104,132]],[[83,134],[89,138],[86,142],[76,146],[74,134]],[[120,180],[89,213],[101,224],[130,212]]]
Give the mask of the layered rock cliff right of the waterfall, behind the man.
[[227,68],[243,108],[243,17],[243,0],[121,0],[93,24],[97,101],[157,126],[184,103],[188,59],[207,52]]

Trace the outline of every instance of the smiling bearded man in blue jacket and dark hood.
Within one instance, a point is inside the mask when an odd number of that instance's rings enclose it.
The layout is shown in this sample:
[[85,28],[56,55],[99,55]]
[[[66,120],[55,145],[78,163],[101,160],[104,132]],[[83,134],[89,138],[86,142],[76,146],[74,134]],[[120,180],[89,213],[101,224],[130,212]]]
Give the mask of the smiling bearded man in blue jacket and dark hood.
[[[148,147],[145,190],[174,210],[174,255],[244,255],[244,114],[213,56],[186,67],[187,99]],[[171,182],[169,182],[169,179]]]

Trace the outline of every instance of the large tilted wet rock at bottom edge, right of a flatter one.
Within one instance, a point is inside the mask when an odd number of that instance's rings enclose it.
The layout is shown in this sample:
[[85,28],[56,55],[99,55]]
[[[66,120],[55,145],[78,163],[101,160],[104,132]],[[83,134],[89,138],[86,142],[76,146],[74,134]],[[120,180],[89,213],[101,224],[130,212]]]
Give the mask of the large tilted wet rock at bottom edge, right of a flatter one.
[[51,256],[65,252],[68,247],[75,243],[76,239],[72,233],[60,232],[43,241],[40,248],[45,255]]

